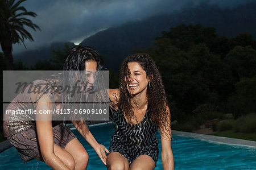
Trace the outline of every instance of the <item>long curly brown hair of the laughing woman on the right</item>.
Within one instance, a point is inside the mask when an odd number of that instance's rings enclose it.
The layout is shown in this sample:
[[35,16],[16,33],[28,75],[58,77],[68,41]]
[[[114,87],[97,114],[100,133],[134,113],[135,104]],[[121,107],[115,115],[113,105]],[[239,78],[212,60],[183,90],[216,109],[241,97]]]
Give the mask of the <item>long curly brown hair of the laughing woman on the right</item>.
[[129,82],[129,77],[131,76],[128,63],[131,62],[139,63],[150,79],[150,84],[147,86],[147,101],[148,108],[151,110],[151,113],[154,113],[151,114],[152,121],[159,126],[160,131],[164,132],[164,135],[171,136],[171,118],[167,110],[167,99],[163,81],[154,60],[147,53],[130,55],[123,61],[120,69],[119,99],[116,101],[117,106],[123,108],[129,121],[131,121],[131,118],[136,119],[133,106],[131,105],[132,96],[127,89],[127,82]]

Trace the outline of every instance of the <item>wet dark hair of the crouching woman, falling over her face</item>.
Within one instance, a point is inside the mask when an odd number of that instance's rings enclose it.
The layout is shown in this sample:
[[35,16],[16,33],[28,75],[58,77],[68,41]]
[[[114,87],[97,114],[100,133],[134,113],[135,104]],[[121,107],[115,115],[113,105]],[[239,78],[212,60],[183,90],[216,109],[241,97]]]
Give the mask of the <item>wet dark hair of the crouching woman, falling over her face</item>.
[[[63,78],[61,79],[61,84],[63,86],[69,85],[69,86],[75,86],[76,81],[75,79],[82,80],[86,82],[86,76],[85,76],[85,62],[86,61],[96,61],[97,63],[97,71],[102,70],[102,57],[98,54],[98,52],[90,47],[73,47],[69,50],[69,52],[66,55],[66,59],[63,65]],[[68,71],[68,72],[67,72]],[[75,71],[75,72],[72,72]],[[78,72],[77,72],[78,71]],[[67,75],[68,74],[68,75]],[[67,78],[68,77],[68,78]],[[71,94],[64,94],[62,96],[62,102],[64,108],[67,109],[84,109],[84,102],[88,101],[106,101],[108,99],[108,93],[106,93],[106,89],[104,84],[101,82],[103,81],[103,76],[100,72],[96,72],[95,75],[95,82],[94,88],[97,89],[97,91],[101,91],[102,93],[100,95],[93,95],[93,98],[88,99],[88,94],[77,94],[76,96],[71,96]],[[90,95],[92,96],[92,95]],[[73,103],[75,101],[76,103]],[[75,115],[72,119],[79,119],[78,117],[81,116],[79,114]],[[88,119],[89,115],[86,114],[86,117],[84,119]],[[91,118],[93,119],[93,118]],[[79,126],[83,126],[84,122],[78,122]]]

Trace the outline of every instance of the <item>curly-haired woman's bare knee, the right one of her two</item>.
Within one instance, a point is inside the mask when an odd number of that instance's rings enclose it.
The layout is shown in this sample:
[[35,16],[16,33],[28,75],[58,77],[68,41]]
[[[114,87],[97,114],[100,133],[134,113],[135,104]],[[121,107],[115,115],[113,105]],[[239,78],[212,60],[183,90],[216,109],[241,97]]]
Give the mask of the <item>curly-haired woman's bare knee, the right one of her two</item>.
[[148,155],[138,156],[130,166],[130,170],[140,169],[140,170],[150,170],[155,168],[155,161],[152,157]]

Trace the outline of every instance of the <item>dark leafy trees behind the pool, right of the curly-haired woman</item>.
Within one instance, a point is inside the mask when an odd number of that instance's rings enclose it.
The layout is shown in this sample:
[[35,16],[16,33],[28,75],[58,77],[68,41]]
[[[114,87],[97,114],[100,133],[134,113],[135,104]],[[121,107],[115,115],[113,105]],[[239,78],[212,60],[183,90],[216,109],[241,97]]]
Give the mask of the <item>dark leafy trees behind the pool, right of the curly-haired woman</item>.
[[163,31],[150,54],[162,75],[172,120],[195,126],[256,111],[256,41],[248,33],[217,35],[214,27],[181,24]]

